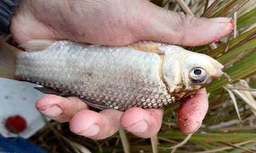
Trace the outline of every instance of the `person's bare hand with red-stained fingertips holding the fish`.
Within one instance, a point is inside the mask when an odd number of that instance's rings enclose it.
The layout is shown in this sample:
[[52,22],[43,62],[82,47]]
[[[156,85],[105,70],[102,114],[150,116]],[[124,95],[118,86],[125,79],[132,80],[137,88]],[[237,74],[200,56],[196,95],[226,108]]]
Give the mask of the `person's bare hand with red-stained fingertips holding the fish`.
[[[230,33],[230,21],[187,16],[147,0],[21,0],[10,32],[19,44],[33,39],[69,39],[112,46],[141,40],[199,46]],[[159,131],[163,116],[163,108],[97,113],[77,98],[54,95],[39,99],[36,108],[59,122],[70,120],[72,132],[94,139],[109,137],[120,127],[148,138]],[[178,113],[180,129],[187,134],[196,131],[207,108],[205,89],[188,98]]]

